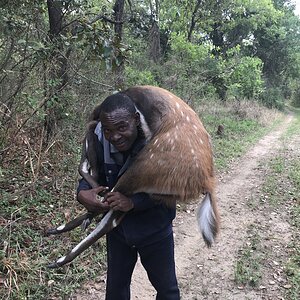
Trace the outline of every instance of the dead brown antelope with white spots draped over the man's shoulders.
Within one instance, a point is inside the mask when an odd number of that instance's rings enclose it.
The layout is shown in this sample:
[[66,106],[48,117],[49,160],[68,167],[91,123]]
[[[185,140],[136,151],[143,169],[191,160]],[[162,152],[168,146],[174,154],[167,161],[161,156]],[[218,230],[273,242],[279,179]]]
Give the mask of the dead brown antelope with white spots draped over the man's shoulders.
[[[166,205],[186,203],[204,195],[197,212],[203,239],[210,247],[219,231],[219,213],[215,196],[215,176],[210,136],[195,111],[171,92],[154,86],[135,86],[121,93],[132,99],[140,114],[146,145],[134,163],[119,178],[113,188],[127,197],[148,193],[153,201]],[[85,136],[80,175],[92,187],[97,182],[97,162],[94,133],[99,120],[99,106],[93,111],[93,121]],[[103,196],[103,195],[102,195]],[[100,197],[103,201],[103,197]],[[48,267],[56,268],[71,262],[96,240],[118,226],[125,212],[109,210],[96,228],[67,255]],[[59,234],[82,225],[85,229],[95,217],[87,212],[66,225],[48,231]]]

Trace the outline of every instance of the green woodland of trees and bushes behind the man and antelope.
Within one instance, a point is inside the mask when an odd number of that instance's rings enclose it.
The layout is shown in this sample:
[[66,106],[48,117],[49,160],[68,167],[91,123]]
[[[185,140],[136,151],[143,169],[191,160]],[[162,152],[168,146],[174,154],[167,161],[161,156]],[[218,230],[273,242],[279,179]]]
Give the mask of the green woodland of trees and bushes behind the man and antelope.
[[187,102],[300,104],[291,1],[1,1],[1,154],[29,128],[50,141],[104,95],[136,84]]

